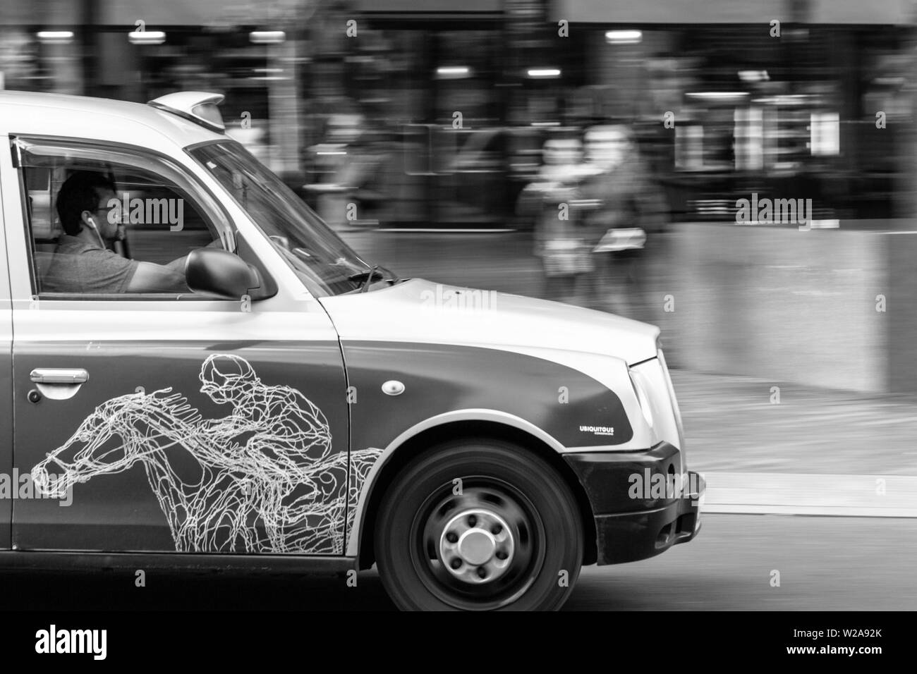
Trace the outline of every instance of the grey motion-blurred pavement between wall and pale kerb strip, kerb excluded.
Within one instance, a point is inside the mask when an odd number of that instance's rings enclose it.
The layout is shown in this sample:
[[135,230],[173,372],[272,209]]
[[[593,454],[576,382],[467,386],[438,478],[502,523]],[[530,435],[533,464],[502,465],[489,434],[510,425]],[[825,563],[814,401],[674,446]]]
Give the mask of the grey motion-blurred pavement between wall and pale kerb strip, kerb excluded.
[[672,382],[692,470],[917,475],[917,402],[906,397],[689,370]]

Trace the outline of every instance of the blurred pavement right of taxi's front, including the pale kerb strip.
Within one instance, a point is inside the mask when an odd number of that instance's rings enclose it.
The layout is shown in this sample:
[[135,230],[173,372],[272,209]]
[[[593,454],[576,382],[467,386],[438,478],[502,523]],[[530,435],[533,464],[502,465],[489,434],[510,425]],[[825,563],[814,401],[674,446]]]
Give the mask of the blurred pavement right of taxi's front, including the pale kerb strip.
[[672,370],[709,513],[917,517],[917,402]]

